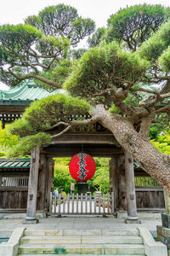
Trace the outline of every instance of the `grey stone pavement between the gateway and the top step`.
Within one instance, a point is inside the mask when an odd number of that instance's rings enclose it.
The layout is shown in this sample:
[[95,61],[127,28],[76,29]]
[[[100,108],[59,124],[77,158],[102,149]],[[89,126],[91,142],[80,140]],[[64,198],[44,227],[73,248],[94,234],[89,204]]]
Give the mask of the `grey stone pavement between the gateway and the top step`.
[[118,218],[94,217],[94,216],[71,216],[71,217],[49,217],[40,218],[39,224],[22,224],[25,214],[0,214],[0,231],[14,230],[25,226],[27,230],[134,230],[136,227],[146,227],[156,230],[156,225],[161,225],[161,214],[139,213],[141,224],[125,224],[124,216]]

